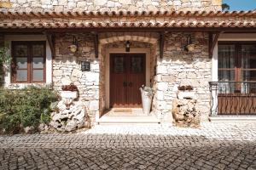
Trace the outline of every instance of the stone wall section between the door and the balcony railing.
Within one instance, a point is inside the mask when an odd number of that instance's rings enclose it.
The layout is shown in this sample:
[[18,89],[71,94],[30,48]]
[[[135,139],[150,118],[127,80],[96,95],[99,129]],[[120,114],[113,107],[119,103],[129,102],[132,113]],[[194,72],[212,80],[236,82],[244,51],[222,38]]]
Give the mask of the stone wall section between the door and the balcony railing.
[[[208,56],[206,33],[191,33],[195,51],[186,52],[189,33],[168,33],[163,59],[157,61],[155,111],[166,119],[172,118],[172,101],[177,98],[178,85],[195,88],[195,99],[201,119],[206,120],[210,111],[208,82],[212,80],[212,59]],[[169,118],[168,118],[169,117]]]

